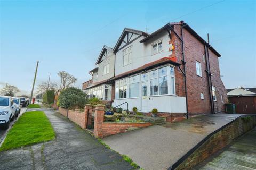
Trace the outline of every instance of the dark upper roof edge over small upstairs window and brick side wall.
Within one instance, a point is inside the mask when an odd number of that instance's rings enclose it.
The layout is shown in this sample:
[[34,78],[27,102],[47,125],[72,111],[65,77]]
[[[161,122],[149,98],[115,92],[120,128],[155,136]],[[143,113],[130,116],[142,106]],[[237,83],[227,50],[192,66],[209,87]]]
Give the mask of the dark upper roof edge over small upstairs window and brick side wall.
[[183,28],[185,28],[191,35],[193,35],[196,39],[198,39],[202,44],[206,45],[214,54],[216,54],[218,57],[221,57],[221,55],[210,45],[208,44],[202,37],[200,37],[187,23],[181,22],[170,22],[164,25],[162,28],[156,30],[155,32],[151,33],[149,36],[142,39],[140,42],[146,42],[150,38],[156,36],[158,33],[160,33],[163,30],[168,29],[169,27],[173,27],[173,25],[182,25]]

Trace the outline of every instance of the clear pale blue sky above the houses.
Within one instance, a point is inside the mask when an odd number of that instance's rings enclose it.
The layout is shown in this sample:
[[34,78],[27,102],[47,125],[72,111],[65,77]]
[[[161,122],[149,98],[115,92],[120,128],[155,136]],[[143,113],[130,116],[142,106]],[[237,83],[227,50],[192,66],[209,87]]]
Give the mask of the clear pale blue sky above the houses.
[[0,88],[29,94],[37,84],[59,83],[66,71],[90,79],[103,45],[114,47],[123,29],[151,33],[185,21],[222,57],[225,87],[256,87],[256,1],[3,1],[0,0]]

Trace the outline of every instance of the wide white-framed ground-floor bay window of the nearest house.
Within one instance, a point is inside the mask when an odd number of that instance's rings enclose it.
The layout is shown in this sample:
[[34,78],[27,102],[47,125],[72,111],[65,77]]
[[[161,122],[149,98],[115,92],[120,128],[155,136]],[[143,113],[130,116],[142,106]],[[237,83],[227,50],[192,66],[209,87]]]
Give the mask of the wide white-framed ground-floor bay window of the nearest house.
[[[165,66],[122,80],[116,80],[115,98],[140,97],[140,89],[142,89],[141,94],[143,95],[143,87],[141,88],[140,82],[148,83],[150,96],[175,95],[174,67]],[[145,86],[145,88],[147,88],[147,86]]]

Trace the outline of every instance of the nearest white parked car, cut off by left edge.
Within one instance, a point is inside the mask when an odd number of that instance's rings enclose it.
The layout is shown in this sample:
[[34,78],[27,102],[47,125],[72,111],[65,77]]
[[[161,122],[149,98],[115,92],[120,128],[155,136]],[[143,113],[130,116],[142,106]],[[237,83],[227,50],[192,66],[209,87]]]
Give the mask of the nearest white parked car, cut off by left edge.
[[14,120],[16,112],[16,104],[10,96],[0,96],[0,125],[4,129],[9,128],[10,121]]

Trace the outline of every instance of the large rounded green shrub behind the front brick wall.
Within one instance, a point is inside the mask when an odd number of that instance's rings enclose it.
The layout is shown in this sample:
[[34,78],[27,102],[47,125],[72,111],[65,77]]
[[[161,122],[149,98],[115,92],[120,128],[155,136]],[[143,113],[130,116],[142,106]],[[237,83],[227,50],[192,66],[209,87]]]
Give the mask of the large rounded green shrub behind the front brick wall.
[[58,97],[59,106],[62,108],[83,109],[86,104],[86,94],[77,88],[70,87],[60,92]]

